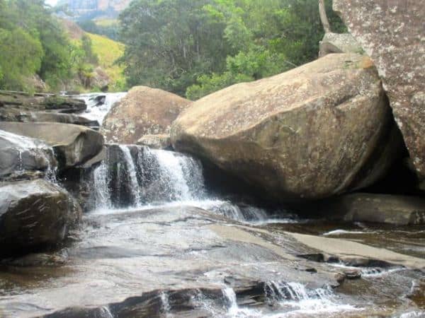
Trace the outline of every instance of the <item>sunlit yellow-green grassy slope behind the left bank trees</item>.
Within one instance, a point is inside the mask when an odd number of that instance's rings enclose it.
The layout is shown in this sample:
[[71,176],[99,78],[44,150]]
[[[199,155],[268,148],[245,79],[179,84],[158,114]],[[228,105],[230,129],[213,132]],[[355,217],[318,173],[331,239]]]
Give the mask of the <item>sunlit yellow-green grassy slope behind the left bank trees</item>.
[[93,52],[98,56],[99,66],[111,78],[110,90],[123,90],[125,86],[123,67],[115,64],[115,61],[123,56],[124,45],[102,35],[86,34],[90,37]]

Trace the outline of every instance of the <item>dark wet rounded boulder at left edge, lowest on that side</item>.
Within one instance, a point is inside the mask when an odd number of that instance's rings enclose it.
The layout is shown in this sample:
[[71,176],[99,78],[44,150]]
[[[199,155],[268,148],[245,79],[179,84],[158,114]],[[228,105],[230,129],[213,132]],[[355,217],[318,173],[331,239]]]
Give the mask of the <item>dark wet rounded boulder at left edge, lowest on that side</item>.
[[0,257],[57,245],[78,225],[81,208],[44,179],[0,184]]

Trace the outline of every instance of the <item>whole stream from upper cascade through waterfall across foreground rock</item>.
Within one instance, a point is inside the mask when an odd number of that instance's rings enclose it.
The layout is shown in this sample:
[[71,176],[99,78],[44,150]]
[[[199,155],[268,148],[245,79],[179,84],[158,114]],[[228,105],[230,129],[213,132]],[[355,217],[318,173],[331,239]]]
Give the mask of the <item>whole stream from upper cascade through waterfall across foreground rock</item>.
[[[91,102],[86,116],[101,122],[123,95],[81,96]],[[74,241],[0,264],[0,317],[425,314],[424,273],[402,266],[424,260],[421,228],[303,220],[222,199],[205,186],[199,160],[145,146],[107,145],[88,179],[92,208]],[[407,261],[324,261],[293,233],[362,242]]]

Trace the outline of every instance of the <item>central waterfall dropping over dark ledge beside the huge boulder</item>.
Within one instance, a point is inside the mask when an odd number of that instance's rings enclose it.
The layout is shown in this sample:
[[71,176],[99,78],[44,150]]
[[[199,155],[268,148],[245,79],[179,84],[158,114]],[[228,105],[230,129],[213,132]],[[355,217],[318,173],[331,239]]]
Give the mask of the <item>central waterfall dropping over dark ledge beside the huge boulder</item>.
[[109,145],[92,178],[96,209],[195,201],[204,194],[198,160],[145,146]]

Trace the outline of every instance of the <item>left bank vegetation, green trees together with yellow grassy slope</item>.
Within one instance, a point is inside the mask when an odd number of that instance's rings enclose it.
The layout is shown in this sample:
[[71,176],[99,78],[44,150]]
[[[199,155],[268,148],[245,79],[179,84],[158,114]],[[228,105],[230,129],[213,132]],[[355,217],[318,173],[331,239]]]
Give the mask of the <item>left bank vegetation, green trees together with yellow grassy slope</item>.
[[43,0],[0,0],[0,89],[123,90],[123,45],[75,28]]

